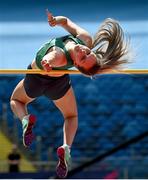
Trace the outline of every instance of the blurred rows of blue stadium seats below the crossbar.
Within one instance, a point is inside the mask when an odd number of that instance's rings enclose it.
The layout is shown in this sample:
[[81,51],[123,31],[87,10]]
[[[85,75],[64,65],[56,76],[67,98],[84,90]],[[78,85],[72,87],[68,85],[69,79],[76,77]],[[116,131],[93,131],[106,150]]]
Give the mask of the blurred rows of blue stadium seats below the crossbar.
[[[12,127],[16,126],[19,143],[22,143],[21,123],[14,120],[9,99],[21,78],[21,76],[2,76],[0,80],[0,112],[3,111],[3,105],[7,104],[8,129],[12,133]],[[71,79],[79,111],[79,127],[72,147],[75,162],[79,162],[79,158],[93,158],[107,152],[147,131],[148,76],[141,75],[140,78],[137,76],[135,78],[127,75],[103,75],[93,80],[71,76]],[[30,153],[37,153],[40,144],[40,160],[49,159],[49,148],[52,148],[53,159],[56,160],[56,149],[62,144],[62,115],[45,97],[32,102],[29,105],[29,112],[37,116],[34,128],[36,141],[32,144]],[[132,147],[135,152],[144,157],[148,156],[145,151],[148,148],[146,144],[146,141],[141,141]],[[114,156],[122,155],[130,159],[130,148]],[[123,166],[126,164],[125,161],[120,162],[122,163]]]

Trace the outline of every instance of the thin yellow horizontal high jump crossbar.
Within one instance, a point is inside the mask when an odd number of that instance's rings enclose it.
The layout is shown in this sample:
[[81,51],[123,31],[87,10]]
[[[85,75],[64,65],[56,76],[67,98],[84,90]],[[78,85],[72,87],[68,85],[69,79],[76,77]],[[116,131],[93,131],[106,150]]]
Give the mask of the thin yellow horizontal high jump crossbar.
[[[52,70],[46,72],[39,69],[0,69],[0,74],[81,74],[78,70]],[[99,74],[99,73],[98,73]],[[148,74],[148,69],[127,69],[127,70],[112,70],[105,74]]]

